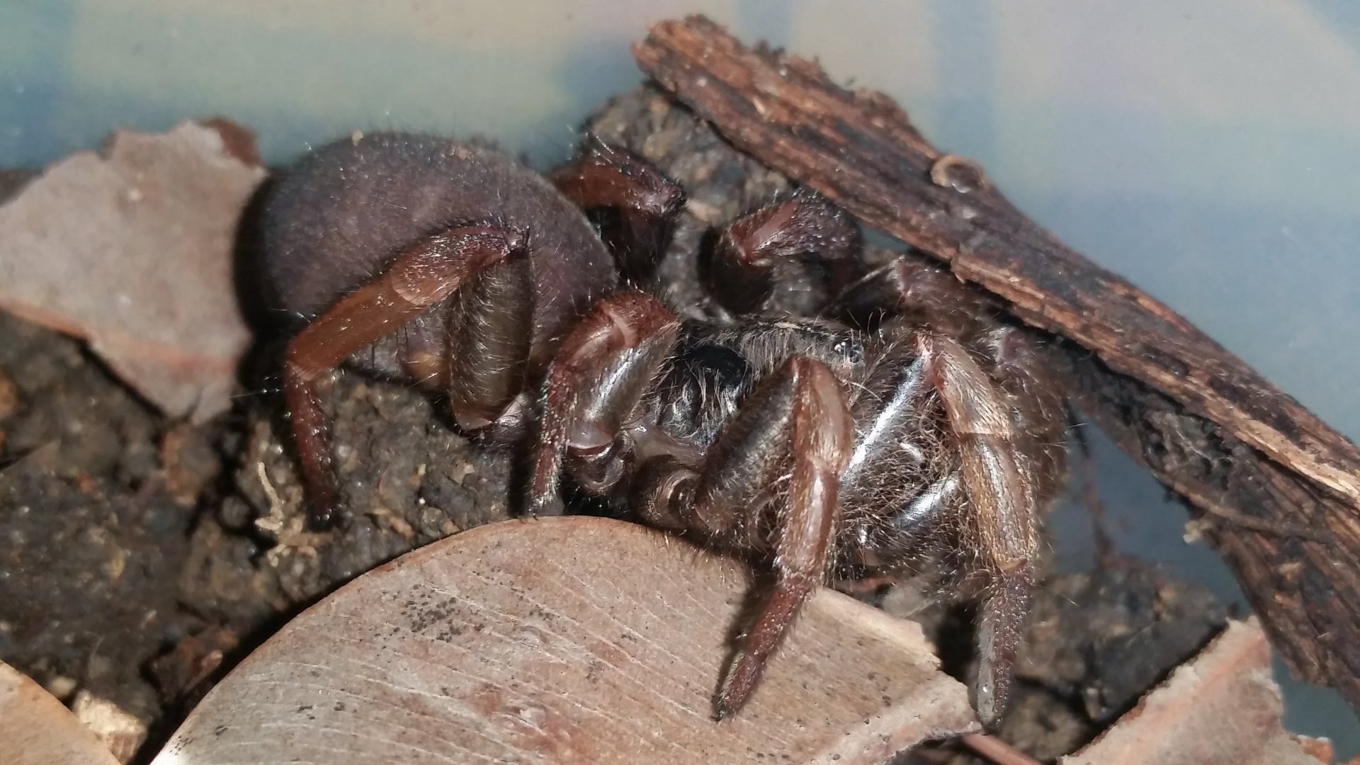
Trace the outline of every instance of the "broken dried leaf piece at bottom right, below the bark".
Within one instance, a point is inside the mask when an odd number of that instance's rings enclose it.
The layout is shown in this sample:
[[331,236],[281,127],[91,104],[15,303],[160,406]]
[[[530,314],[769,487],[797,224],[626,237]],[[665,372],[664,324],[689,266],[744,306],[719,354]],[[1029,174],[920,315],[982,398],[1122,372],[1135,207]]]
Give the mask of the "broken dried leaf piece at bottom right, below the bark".
[[1270,645],[1255,617],[1231,622],[1194,660],[1062,765],[1318,765],[1284,731]]

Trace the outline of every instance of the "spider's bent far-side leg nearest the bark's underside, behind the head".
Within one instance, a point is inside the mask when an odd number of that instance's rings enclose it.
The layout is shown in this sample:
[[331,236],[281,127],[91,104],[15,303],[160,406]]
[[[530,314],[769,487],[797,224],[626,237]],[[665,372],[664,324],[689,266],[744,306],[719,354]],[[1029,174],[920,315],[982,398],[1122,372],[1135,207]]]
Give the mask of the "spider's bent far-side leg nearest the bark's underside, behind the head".
[[860,253],[860,227],[824,197],[800,191],[749,212],[722,230],[702,263],[704,287],[733,313],[764,306],[774,290],[777,261],[811,256],[836,274]]

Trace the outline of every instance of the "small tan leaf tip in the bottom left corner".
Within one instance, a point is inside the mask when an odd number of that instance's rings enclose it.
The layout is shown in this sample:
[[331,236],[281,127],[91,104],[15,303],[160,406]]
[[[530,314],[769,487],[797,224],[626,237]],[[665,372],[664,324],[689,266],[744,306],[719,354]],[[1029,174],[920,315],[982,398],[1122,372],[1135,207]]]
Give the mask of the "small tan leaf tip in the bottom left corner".
[[0,742],[4,765],[118,765],[54,696],[4,662]]

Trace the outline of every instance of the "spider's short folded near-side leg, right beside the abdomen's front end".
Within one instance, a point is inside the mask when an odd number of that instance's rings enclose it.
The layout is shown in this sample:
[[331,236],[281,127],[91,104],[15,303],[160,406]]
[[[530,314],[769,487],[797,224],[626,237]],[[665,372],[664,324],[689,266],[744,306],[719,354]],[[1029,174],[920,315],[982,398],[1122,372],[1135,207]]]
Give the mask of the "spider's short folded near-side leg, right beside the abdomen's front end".
[[679,331],[680,320],[661,301],[627,290],[598,301],[563,339],[543,387],[530,513],[552,500],[563,461],[593,491],[619,481],[624,426],[639,419]]

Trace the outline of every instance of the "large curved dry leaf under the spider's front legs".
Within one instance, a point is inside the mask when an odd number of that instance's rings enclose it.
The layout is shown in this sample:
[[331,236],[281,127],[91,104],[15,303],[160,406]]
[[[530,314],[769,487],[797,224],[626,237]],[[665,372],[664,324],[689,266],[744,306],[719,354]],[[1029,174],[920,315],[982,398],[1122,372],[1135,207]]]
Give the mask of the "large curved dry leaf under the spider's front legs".
[[919,628],[831,591],[714,723],[745,568],[635,524],[452,536],[364,574],[246,659],[156,765],[884,762],[975,730]]

